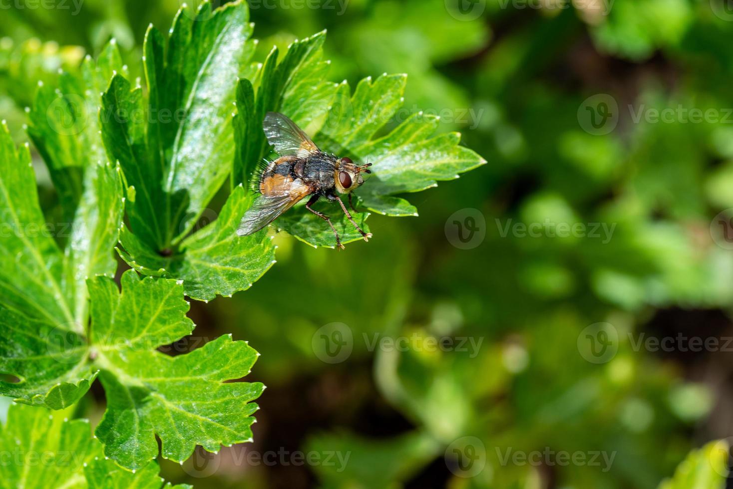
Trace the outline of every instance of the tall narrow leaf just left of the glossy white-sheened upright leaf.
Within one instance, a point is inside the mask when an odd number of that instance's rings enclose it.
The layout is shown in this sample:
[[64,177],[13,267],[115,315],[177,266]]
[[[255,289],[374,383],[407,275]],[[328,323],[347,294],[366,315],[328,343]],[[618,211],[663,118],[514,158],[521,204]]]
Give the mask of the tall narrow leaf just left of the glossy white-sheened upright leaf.
[[116,70],[122,61],[110,42],[96,62],[87,56],[78,71],[59,75],[58,88],[41,86],[29,111],[28,133],[62,206],[51,230],[69,237],[62,285],[78,325],[86,320],[86,278],[117,269],[111,248],[122,223],[122,179],[107,162],[97,120],[99,94]]

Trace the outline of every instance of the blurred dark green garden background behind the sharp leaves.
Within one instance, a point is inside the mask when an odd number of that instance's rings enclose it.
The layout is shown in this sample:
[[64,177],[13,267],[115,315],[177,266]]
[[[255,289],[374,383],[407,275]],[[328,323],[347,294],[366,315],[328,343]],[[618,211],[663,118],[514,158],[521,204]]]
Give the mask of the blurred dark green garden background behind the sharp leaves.
[[[18,141],[37,81],[111,37],[139,75],[144,29],[180,7],[79,1],[1,7],[0,113]],[[250,291],[194,302],[174,351],[232,332],[268,389],[254,444],[163,460],[166,479],[655,488],[733,434],[733,5],[251,0],[251,17],[260,57],[328,29],[334,81],[408,73],[403,115],[440,115],[488,164],[410,198],[419,217],[373,215],[374,239],[343,253],[281,234]],[[322,342],[339,338],[350,354],[332,362]]]

